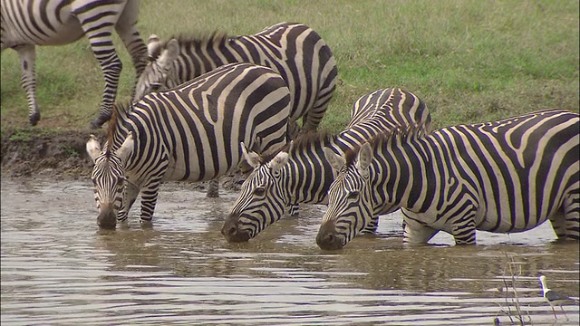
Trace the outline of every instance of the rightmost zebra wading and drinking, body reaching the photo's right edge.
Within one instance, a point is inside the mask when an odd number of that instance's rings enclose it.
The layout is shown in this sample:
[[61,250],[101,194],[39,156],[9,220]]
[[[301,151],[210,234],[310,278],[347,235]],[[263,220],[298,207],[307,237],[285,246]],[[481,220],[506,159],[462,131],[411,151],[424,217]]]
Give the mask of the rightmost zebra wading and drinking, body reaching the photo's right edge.
[[548,219],[558,239],[579,238],[580,120],[542,110],[433,131],[399,129],[346,157],[316,242],[340,249],[372,216],[401,207],[403,243],[426,244],[440,230],[474,245],[476,230],[523,232]]

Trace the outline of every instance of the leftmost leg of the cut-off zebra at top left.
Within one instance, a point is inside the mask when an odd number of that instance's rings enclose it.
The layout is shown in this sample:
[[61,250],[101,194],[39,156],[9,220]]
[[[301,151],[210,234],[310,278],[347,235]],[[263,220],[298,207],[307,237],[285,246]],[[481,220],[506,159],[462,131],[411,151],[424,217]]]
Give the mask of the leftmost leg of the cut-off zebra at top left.
[[28,120],[31,126],[35,126],[38,120],[40,120],[40,112],[36,107],[36,78],[34,77],[36,52],[34,45],[31,44],[15,46],[14,50],[20,57],[22,67],[22,79],[20,83],[26,92],[26,99],[28,100]]

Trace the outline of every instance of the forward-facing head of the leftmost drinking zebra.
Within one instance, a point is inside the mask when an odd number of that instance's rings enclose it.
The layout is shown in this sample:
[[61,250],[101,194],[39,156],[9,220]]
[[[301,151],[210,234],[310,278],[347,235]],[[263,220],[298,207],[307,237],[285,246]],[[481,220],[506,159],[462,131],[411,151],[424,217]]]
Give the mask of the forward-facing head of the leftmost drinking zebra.
[[94,163],[91,179],[94,186],[94,200],[99,209],[97,224],[102,228],[114,229],[117,225],[117,216],[123,204],[125,189],[124,164],[131,154],[133,144],[132,133],[117,150],[112,150],[108,146],[102,150],[99,140],[93,135],[87,141],[87,153]]

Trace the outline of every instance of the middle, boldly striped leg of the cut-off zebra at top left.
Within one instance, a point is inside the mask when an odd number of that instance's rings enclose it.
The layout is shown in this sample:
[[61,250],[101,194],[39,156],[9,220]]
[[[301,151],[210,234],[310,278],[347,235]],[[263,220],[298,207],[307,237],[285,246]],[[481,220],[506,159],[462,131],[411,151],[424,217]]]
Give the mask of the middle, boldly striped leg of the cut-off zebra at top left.
[[102,124],[111,118],[112,103],[117,96],[122,62],[117,56],[115,46],[112,43],[112,31],[121,16],[125,3],[107,3],[106,10],[102,5],[82,6],[83,4],[84,2],[82,1],[73,1],[72,14],[81,23],[82,31],[84,31],[91,44],[92,53],[101,64],[105,80],[99,116],[91,122],[91,128],[97,129],[101,128]]

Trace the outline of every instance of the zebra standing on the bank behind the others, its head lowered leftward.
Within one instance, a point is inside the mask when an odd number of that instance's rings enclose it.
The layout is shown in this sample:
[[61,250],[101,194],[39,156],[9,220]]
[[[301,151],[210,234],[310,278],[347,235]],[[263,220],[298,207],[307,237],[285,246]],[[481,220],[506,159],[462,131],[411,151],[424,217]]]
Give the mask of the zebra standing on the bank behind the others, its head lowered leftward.
[[[148,43],[151,62],[137,82],[135,98],[167,90],[231,62],[251,62],[280,73],[290,89],[292,122],[304,117],[304,130],[316,129],[336,85],[333,53],[320,35],[304,24],[280,23],[254,35],[183,36]],[[293,126],[293,130],[298,127]]]

